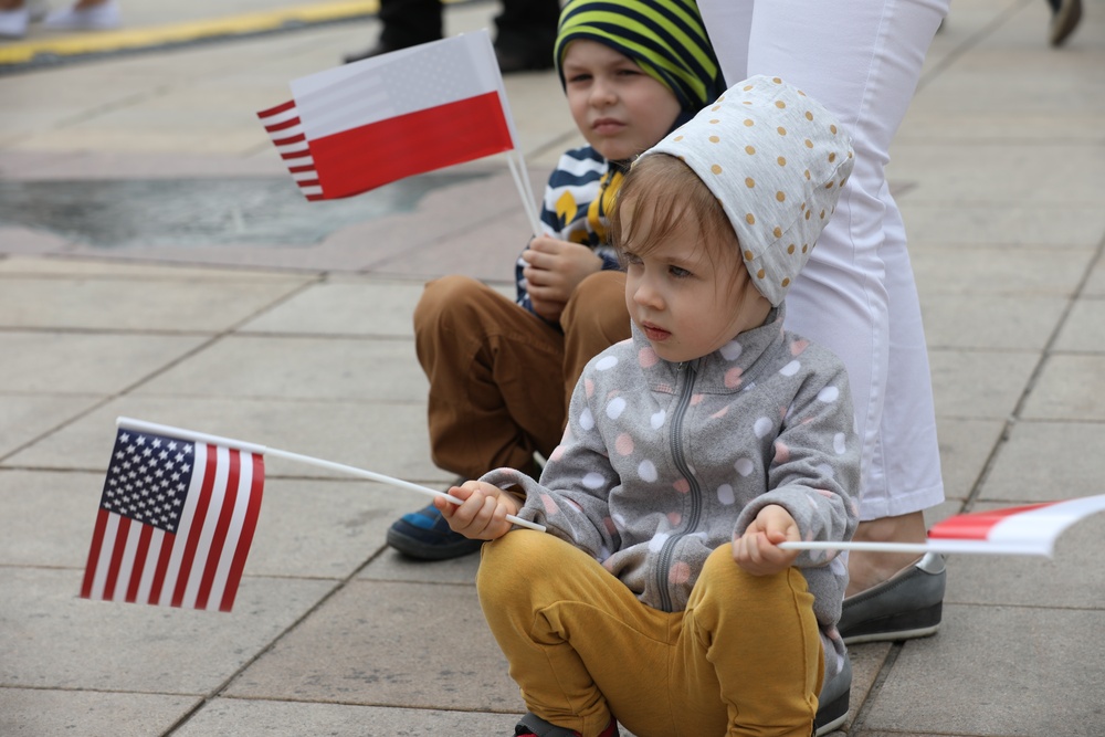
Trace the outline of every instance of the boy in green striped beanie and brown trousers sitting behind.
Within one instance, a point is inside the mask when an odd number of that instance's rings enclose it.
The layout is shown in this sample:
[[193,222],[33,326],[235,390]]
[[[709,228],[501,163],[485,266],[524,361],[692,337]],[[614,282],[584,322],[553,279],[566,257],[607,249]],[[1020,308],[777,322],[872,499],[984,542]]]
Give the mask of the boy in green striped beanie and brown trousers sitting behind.
[[[607,222],[622,172],[725,88],[693,0],[570,0],[556,61],[588,146],[567,151],[549,178],[545,232],[518,262],[516,302],[446,276],[414,312],[433,461],[463,478],[496,466],[537,476],[534,453],[559,441],[583,365],[629,337]],[[431,560],[480,547],[432,505],[396,522],[388,543]]]

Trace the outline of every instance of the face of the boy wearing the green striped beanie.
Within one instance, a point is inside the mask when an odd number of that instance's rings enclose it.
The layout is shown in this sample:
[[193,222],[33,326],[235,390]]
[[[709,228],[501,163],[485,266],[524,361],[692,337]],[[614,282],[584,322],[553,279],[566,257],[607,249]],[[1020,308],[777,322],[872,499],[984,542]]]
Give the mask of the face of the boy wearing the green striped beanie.
[[568,44],[564,78],[576,126],[609,160],[629,159],[656,145],[680,114],[671,90],[597,41]]

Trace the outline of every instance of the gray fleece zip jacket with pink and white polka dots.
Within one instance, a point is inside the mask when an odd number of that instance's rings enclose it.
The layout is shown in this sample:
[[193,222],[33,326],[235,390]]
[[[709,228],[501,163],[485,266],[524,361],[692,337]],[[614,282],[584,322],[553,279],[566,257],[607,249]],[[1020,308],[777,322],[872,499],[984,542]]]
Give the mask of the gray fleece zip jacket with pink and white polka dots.
[[[663,611],[686,606],[706,557],[766,505],[785,507],[804,539],[850,538],[860,442],[844,367],[783,330],[783,313],[678,365],[634,328],[583,370],[540,483],[509,468],[482,481],[523,491],[518,516],[587,551]],[[848,567],[823,551],[794,565],[814,597],[827,673],[835,673]]]

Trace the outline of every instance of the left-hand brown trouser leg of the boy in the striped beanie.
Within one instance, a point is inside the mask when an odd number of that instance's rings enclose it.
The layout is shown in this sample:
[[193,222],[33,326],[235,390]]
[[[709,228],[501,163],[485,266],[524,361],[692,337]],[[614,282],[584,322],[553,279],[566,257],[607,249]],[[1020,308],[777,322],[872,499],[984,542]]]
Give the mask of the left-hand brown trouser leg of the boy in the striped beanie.
[[508,466],[534,473],[564,432],[564,338],[466,276],[430,282],[414,310],[430,380],[433,461],[469,478]]

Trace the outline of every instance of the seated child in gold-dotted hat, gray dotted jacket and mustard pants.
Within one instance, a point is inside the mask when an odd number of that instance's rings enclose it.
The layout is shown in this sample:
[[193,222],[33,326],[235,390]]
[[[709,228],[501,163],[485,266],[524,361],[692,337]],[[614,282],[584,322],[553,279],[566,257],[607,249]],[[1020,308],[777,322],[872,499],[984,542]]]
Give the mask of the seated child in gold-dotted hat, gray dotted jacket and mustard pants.
[[517,735],[804,737],[819,694],[843,697],[819,731],[843,720],[846,567],[779,544],[856,525],[844,367],[783,329],[851,169],[832,115],[758,76],[627,176],[612,225],[632,339],[587,365],[540,483],[501,468],[435,502],[494,540],[477,588],[530,712]]

